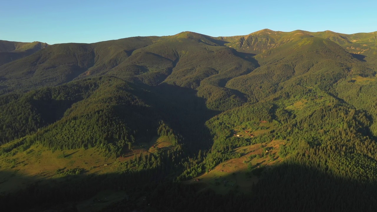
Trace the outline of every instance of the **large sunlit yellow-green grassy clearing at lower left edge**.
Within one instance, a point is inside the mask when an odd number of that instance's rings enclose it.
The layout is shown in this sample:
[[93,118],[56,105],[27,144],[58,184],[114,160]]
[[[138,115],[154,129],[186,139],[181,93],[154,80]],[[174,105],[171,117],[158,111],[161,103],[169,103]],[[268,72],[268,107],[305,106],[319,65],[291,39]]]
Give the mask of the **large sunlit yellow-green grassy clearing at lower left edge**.
[[120,165],[118,159],[104,155],[97,148],[51,151],[33,145],[26,151],[0,158],[0,193],[13,192],[44,179],[58,179],[62,177],[59,169],[83,169],[80,174],[116,172]]

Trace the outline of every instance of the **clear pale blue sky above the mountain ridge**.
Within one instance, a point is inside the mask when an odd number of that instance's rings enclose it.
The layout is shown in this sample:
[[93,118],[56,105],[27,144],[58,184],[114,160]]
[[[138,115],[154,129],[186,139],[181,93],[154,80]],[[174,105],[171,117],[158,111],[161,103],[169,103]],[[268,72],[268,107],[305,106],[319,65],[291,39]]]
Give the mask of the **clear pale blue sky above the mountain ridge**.
[[0,0],[0,40],[94,43],[193,31],[377,31],[375,0]]

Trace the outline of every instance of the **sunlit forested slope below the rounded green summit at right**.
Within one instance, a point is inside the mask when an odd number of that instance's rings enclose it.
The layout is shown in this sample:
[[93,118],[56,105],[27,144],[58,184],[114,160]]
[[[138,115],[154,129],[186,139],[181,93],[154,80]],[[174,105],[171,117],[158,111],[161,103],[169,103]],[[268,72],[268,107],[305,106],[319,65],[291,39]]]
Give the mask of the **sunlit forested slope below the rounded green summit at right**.
[[314,85],[329,91],[340,79],[374,75],[370,65],[322,38],[308,37],[287,43],[255,58],[261,65],[259,68],[233,78],[226,85],[254,102],[276,94],[293,95],[297,89]]

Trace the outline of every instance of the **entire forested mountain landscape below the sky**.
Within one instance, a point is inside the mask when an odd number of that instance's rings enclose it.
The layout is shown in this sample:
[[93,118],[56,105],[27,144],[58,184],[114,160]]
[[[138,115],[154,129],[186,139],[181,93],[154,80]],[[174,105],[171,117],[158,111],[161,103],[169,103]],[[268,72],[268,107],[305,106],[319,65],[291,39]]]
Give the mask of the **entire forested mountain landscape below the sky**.
[[377,32],[0,40],[0,210],[375,211]]

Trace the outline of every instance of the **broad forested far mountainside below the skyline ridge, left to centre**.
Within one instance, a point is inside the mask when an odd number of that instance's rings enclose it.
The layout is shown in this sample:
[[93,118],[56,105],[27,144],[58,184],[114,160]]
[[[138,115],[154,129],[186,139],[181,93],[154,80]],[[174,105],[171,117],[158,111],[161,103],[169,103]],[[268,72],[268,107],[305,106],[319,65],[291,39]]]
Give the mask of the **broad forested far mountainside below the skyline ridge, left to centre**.
[[[126,38],[94,44],[60,44],[1,66],[6,89],[53,86],[92,75],[112,75],[132,83],[166,81],[197,88],[212,109],[240,106],[238,92],[224,88],[233,77],[252,71],[257,62],[212,38],[183,32],[170,37]],[[229,61],[231,61],[229,63]],[[199,86],[201,85],[201,86]],[[216,93],[210,96],[209,92]],[[225,102],[228,98],[232,101]]]

